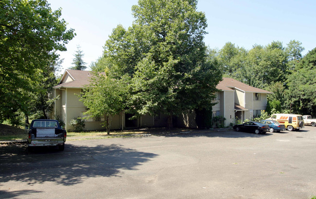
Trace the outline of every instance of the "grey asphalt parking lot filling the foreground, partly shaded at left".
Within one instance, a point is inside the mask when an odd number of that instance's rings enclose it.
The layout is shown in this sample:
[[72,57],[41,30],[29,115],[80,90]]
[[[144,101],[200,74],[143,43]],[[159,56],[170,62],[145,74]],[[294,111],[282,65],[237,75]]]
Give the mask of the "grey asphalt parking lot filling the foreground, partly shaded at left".
[[0,198],[316,196],[316,127],[68,140],[64,151],[0,146]]

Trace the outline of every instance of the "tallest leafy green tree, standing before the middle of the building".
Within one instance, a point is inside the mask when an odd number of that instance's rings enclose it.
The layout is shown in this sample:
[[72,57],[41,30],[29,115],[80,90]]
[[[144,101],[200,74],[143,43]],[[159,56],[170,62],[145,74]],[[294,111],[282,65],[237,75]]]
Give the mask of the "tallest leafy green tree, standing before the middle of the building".
[[163,112],[172,127],[173,116],[211,107],[221,73],[206,61],[207,22],[196,6],[196,0],[140,0],[133,6],[136,20],[127,35],[136,41],[131,97],[136,115]]

